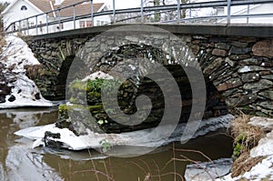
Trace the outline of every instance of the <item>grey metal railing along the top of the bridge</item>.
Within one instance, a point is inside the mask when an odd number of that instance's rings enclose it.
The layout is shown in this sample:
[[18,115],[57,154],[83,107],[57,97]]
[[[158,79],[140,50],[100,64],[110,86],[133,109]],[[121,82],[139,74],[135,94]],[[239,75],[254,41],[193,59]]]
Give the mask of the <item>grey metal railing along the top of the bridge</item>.
[[[83,3],[90,2],[90,13],[86,15],[76,15],[76,6],[82,5]],[[155,15],[162,15],[162,14],[170,14],[173,13],[172,19],[168,20],[161,20],[158,22],[148,22],[148,23],[185,23],[190,21],[209,21],[212,19],[217,19],[214,23],[217,22],[225,22],[230,24],[231,19],[234,18],[246,18],[247,23],[248,19],[252,17],[273,17],[273,10],[272,13],[267,14],[249,14],[249,5],[261,5],[261,4],[273,4],[273,0],[221,0],[221,1],[213,1],[213,2],[202,2],[202,3],[188,3],[188,4],[181,4],[180,0],[177,0],[176,5],[157,5],[157,6],[145,6],[144,0],[140,0],[140,7],[136,8],[129,8],[129,9],[116,9],[115,0],[113,0],[113,9],[107,10],[103,12],[94,12],[94,4],[93,0],[86,0],[82,2],[78,2],[74,5],[67,5],[61,8],[54,9],[52,11],[48,11],[39,15],[33,15],[26,17],[24,19],[20,19],[8,25],[5,28],[7,34],[15,33],[15,32],[25,32],[25,35],[30,35],[30,30],[35,30],[35,35],[39,35],[39,29],[43,30],[45,28],[45,32],[40,34],[48,34],[51,33],[49,31],[50,25],[56,25],[57,30],[61,31],[61,25],[64,25],[68,22],[73,22],[73,28],[76,29],[76,21],[82,19],[90,19],[92,24],[94,25],[94,18],[100,17],[103,15],[111,16],[111,22],[107,25],[113,25],[120,22],[126,22],[132,19],[138,19],[140,22],[138,23],[147,23],[146,18],[148,16],[155,16]],[[248,5],[248,13],[244,15],[233,15],[231,14],[231,7],[238,6],[238,5]],[[203,16],[196,16],[196,17],[182,17],[181,11],[186,10],[197,10],[197,9],[204,9],[204,8],[227,8],[227,15],[203,15]],[[69,8],[73,9],[73,15],[68,17],[62,17],[61,13]],[[117,19],[117,15],[128,15],[134,14],[131,17],[124,17]],[[50,16],[53,15],[53,16]],[[38,24],[39,18],[45,18],[45,22]],[[161,16],[160,16],[161,17]],[[51,18],[51,20],[49,20]],[[35,23],[29,25],[29,20],[35,19]],[[25,25],[24,27],[22,26]],[[32,34],[33,35],[33,34]]]

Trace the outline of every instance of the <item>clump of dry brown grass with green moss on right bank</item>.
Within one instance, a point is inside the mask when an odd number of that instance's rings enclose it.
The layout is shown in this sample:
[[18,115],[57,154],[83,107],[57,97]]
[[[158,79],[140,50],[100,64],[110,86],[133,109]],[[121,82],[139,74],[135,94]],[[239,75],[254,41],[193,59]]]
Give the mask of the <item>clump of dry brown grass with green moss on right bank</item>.
[[242,114],[232,122],[232,136],[234,139],[232,177],[243,175],[263,158],[251,158],[249,151],[258,146],[258,141],[265,136],[264,131],[258,126],[248,124],[250,116]]

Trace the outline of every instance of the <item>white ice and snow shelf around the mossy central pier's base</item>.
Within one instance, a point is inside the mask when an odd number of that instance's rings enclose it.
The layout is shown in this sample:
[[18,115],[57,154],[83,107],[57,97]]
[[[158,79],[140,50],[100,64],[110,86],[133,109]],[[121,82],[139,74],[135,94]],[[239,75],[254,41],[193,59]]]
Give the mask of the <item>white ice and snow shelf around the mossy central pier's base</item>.
[[[234,119],[234,116],[220,116],[209,118],[201,122],[197,129],[197,133],[192,136],[204,136],[208,132],[217,131],[222,127],[227,127],[229,122]],[[134,132],[122,133],[122,134],[97,134],[90,130],[86,130],[88,135],[76,136],[68,129],[60,129],[53,125],[47,126],[35,126],[15,132],[17,136],[25,136],[30,139],[34,139],[35,146],[44,146],[43,138],[45,132],[59,133],[60,138],[54,139],[55,141],[62,142],[64,147],[72,150],[81,150],[86,148],[99,148],[102,147],[101,143],[106,140],[111,146],[143,146],[143,147],[157,147],[164,146],[174,141],[180,141],[182,134],[184,133],[186,124],[179,124],[172,136],[168,139],[164,138],[164,133],[168,129],[172,129],[172,126],[158,126],[156,136],[147,136],[155,130],[155,128],[149,128],[145,130],[139,130]],[[139,138],[139,136],[143,136]]]

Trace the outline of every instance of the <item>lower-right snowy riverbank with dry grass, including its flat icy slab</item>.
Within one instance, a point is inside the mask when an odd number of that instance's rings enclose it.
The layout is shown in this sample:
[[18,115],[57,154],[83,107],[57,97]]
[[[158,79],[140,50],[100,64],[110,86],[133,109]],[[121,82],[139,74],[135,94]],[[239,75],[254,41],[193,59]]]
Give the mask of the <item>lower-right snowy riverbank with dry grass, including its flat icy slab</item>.
[[188,165],[186,180],[273,180],[273,119],[238,116],[230,129],[234,136],[233,161],[218,159]]

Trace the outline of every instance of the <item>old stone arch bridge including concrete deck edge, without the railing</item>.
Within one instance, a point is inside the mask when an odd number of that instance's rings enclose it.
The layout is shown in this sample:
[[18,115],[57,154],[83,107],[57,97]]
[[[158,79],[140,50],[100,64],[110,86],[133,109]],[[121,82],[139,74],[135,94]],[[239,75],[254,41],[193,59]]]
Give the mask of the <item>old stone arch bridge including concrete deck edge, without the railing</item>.
[[206,108],[208,115],[227,114],[226,106],[258,116],[273,114],[272,26],[111,25],[29,36],[25,41],[42,63],[28,67],[27,74],[48,99],[65,98],[71,66],[77,72],[107,73],[117,62],[126,59],[134,65],[133,56],[151,54],[176,80],[184,75],[177,65],[200,65],[207,106],[212,105],[210,111]]

